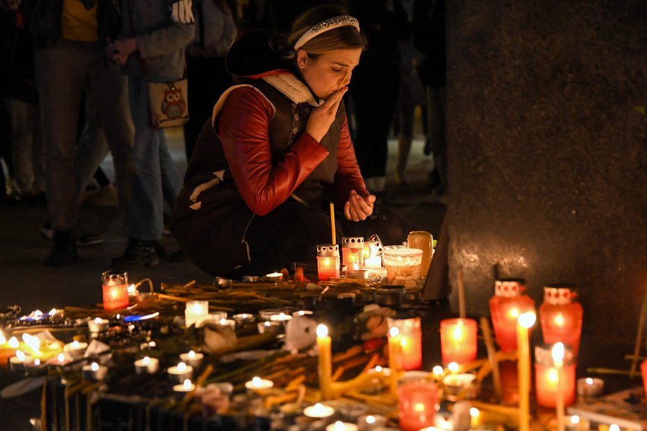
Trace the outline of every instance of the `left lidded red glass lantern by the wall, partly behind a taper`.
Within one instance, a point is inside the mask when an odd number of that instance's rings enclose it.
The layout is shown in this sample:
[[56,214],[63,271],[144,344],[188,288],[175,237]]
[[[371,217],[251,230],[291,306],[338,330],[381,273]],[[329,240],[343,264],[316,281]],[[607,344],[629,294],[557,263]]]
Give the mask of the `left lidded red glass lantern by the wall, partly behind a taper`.
[[524,280],[496,280],[494,296],[489,300],[496,344],[503,352],[516,350],[516,319],[519,314],[535,311],[535,301],[523,294]]

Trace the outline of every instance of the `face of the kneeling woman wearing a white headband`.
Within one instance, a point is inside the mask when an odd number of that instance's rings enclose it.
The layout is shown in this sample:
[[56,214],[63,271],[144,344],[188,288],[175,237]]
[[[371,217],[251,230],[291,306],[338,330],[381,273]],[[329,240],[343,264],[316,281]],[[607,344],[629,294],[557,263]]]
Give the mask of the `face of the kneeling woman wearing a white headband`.
[[339,49],[310,57],[303,49],[296,63],[305,82],[319,99],[328,99],[334,92],[351,82],[353,69],[360,62],[361,48]]

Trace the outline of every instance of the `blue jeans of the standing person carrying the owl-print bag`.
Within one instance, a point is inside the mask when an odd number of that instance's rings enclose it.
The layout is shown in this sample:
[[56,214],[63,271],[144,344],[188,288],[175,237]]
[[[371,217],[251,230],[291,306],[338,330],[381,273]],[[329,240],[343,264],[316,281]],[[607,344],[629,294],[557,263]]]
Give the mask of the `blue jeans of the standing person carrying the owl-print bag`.
[[149,95],[144,78],[128,78],[128,99],[135,124],[135,179],[128,214],[128,236],[150,241],[162,237],[165,205],[169,210],[174,207],[182,178],[169,153],[164,130],[151,127]]

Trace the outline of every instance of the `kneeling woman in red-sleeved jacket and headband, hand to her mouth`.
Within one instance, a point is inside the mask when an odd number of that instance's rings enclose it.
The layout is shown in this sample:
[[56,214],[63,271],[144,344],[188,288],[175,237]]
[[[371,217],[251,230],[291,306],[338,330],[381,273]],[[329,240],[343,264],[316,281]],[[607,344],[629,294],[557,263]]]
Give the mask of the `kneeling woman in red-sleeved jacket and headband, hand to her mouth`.
[[316,245],[330,243],[330,201],[343,209],[337,243],[405,238],[398,217],[376,215],[355,160],[342,97],[367,42],[340,12],[319,6],[287,40],[257,31],[230,48],[227,68],[240,79],[202,129],[171,223],[206,273],[237,278],[314,263]]

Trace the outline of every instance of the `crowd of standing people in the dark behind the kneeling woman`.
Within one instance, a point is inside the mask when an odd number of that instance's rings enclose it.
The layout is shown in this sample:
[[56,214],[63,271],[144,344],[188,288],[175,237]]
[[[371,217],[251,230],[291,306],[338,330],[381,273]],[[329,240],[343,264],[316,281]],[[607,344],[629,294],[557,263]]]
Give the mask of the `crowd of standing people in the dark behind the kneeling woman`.
[[[72,264],[78,246],[102,241],[78,219],[89,195],[117,196],[128,226],[128,246],[113,265],[168,258],[158,239],[181,177],[163,130],[150,125],[146,80],[187,77],[188,160],[233,82],[224,58],[235,37],[255,28],[287,33],[320,3],[342,3],[369,40],[345,96],[367,188],[378,197],[385,189],[391,133],[394,183],[407,184],[419,107],[424,151],[434,160],[430,193],[444,195],[444,0],[0,0],[1,201],[47,205],[43,226],[34,226],[52,240],[45,263]],[[115,184],[99,166],[108,152]]]

